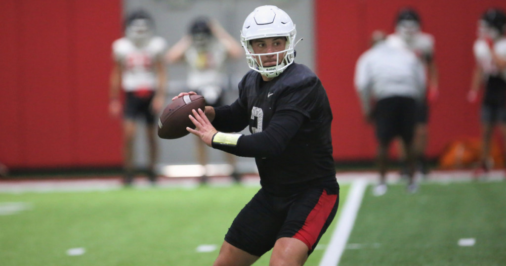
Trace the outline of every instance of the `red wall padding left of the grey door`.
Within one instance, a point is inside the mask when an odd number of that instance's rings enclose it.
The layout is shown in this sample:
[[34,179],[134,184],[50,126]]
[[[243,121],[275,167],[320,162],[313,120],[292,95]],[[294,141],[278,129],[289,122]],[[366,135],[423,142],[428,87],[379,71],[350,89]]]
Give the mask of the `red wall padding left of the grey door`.
[[120,1],[4,0],[0,17],[0,162],[119,165],[107,104]]

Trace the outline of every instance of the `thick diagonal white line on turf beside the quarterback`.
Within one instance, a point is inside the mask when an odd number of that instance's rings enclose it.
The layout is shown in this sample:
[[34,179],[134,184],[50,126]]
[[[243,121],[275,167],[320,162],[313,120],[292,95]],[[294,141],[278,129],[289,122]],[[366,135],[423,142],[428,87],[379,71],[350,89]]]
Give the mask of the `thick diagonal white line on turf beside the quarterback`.
[[360,209],[367,183],[366,179],[356,179],[352,182],[343,211],[339,216],[338,225],[332,233],[332,238],[323,254],[320,266],[337,266],[339,264],[339,260],[346,248],[348,237],[353,230],[353,224]]

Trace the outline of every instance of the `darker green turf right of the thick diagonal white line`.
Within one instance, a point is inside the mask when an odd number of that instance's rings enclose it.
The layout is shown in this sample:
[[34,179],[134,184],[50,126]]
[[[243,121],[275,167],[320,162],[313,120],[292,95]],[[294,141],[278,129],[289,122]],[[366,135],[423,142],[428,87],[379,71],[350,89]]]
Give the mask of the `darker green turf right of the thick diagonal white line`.
[[506,182],[368,189],[339,265],[506,265]]

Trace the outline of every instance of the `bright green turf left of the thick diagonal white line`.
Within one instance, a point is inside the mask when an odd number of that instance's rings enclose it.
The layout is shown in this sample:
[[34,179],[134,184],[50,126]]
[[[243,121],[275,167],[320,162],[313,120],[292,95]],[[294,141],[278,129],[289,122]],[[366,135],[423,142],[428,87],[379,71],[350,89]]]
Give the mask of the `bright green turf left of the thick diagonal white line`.
[[[0,265],[211,265],[218,249],[198,253],[197,246],[219,248],[233,218],[258,189],[0,194],[0,204],[28,206],[0,215]],[[347,189],[342,186],[341,199]],[[322,247],[334,226],[322,238]],[[81,247],[83,255],[66,253]],[[322,254],[315,250],[306,265],[318,265]],[[255,265],[268,265],[269,256]]]

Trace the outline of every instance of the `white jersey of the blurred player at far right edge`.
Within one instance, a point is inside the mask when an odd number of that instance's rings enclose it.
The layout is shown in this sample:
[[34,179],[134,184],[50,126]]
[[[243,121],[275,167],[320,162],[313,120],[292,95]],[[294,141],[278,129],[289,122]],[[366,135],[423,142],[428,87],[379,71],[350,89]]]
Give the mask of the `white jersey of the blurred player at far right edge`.
[[[501,77],[506,80],[506,69],[499,73],[499,69],[492,61],[492,54],[490,53],[490,48],[485,40],[476,40],[473,46],[473,51],[476,62],[483,70],[485,79],[490,75],[500,74]],[[494,51],[500,57],[506,58],[506,37],[502,37],[494,43]]]

